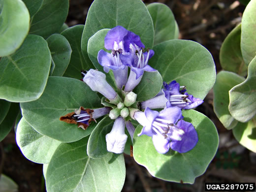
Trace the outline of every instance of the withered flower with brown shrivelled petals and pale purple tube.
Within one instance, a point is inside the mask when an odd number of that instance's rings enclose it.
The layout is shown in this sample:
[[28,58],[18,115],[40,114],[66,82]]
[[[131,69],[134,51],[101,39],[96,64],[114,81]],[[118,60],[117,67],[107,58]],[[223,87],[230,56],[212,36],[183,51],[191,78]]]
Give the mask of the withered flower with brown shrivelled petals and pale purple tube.
[[94,110],[80,107],[74,112],[68,113],[60,117],[60,121],[63,121],[68,124],[77,124],[78,128],[86,130],[86,128],[90,125],[92,121],[96,122],[95,119],[108,114],[110,110],[110,107],[103,107]]

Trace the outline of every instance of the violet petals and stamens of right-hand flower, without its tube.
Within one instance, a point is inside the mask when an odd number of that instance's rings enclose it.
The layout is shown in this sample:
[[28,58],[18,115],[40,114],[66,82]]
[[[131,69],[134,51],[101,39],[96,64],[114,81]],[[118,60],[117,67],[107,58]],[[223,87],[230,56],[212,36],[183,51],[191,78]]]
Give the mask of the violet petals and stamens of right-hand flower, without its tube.
[[167,83],[163,82],[163,92],[167,99],[166,107],[177,106],[182,109],[192,109],[203,103],[200,98],[195,98],[186,92],[185,87],[180,87],[176,81]]

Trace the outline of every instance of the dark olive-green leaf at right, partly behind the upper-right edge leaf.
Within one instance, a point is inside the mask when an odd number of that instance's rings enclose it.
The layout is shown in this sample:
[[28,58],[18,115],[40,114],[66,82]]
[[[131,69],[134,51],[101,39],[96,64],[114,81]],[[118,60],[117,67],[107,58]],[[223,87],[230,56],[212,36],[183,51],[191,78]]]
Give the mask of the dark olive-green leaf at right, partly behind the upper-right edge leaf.
[[245,65],[240,48],[241,24],[234,28],[225,38],[220,52],[222,68],[245,76],[247,65]]

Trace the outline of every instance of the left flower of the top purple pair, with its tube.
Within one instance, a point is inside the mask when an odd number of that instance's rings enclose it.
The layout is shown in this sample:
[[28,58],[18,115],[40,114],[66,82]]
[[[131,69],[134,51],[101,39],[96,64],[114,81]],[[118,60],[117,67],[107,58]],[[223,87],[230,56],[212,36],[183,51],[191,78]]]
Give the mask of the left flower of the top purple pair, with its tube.
[[98,63],[103,66],[106,73],[109,69],[113,70],[117,87],[122,89],[127,83],[128,67],[124,65],[120,57],[128,53],[124,50],[124,37],[128,31],[122,26],[117,26],[107,32],[104,39],[104,46],[107,50],[111,50],[111,53],[107,53],[104,50],[98,52]]

